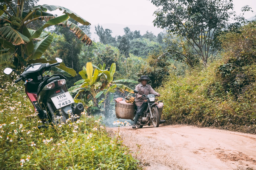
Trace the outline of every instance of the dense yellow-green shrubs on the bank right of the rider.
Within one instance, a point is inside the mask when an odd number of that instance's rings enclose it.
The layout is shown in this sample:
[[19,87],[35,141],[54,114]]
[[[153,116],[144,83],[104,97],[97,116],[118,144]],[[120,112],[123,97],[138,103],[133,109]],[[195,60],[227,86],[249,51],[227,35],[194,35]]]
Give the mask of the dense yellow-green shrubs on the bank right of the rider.
[[[224,87],[215,74],[219,62],[207,69],[195,69],[185,76],[170,75],[159,87],[164,100],[163,118],[171,124],[215,126],[235,129],[250,126],[247,132],[255,133],[255,87],[248,98],[236,96]],[[248,91],[249,93],[249,91]],[[241,129],[240,129],[241,130]]]

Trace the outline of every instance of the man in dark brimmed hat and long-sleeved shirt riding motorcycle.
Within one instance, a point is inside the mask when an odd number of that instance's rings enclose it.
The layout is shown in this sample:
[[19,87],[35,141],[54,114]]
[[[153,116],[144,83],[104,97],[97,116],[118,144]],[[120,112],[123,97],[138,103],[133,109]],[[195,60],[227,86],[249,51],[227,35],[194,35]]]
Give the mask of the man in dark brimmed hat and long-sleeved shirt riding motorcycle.
[[[135,90],[137,90],[139,93],[136,93],[135,95],[135,104],[137,106],[137,111],[136,115],[134,117],[134,123],[132,125],[132,128],[136,128],[136,123],[139,119],[139,117],[142,115],[144,108],[146,106],[146,102],[144,102],[144,98],[141,99],[142,95],[149,95],[149,94],[154,94],[157,96],[160,96],[159,93],[157,93],[151,85],[147,84],[147,82],[150,81],[150,78],[146,75],[142,75],[140,79],[138,79],[138,82],[140,84],[136,85]],[[146,99],[146,98],[145,98]],[[160,123],[164,123],[165,120],[160,120]]]

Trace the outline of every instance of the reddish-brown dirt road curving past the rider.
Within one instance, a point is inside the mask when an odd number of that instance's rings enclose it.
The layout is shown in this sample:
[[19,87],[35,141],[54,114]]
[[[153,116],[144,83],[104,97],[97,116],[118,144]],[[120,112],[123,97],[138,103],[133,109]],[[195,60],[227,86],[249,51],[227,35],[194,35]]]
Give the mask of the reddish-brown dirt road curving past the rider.
[[256,170],[256,135],[185,125],[111,128],[148,170]]

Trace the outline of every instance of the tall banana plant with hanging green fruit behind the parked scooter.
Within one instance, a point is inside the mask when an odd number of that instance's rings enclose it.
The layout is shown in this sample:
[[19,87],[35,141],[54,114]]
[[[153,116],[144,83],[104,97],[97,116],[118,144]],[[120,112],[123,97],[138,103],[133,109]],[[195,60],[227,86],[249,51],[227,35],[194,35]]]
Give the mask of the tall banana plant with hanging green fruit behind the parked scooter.
[[[90,25],[88,21],[73,11],[55,5],[38,5],[24,10],[24,2],[25,0],[17,0],[17,10],[14,10],[11,6],[12,0],[0,0],[0,44],[11,54],[10,58],[15,57],[16,63],[14,64],[17,67],[22,67],[26,63],[35,63],[41,58],[53,40],[50,34],[43,32],[51,25],[68,27],[86,45],[92,44],[91,39],[77,25],[68,21],[68,18],[72,18],[83,25]],[[62,10],[64,15],[55,17],[46,12],[57,9]],[[45,23],[38,30],[27,28],[28,23],[34,20],[44,20]],[[34,43],[35,40],[36,43]],[[58,69],[68,72],[66,75],[76,75],[73,69],[66,66],[62,65]]]

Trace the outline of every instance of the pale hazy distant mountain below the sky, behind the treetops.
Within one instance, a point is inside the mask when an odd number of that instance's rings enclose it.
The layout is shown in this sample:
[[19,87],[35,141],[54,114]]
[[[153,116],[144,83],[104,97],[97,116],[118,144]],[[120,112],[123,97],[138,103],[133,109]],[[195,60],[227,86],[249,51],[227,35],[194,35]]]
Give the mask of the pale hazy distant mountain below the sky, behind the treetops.
[[[102,28],[105,29],[110,29],[112,31],[112,36],[116,37],[118,35],[123,36],[124,35],[124,28],[128,27],[130,28],[131,31],[140,31],[141,35],[145,34],[146,31],[148,32],[152,32],[154,35],[158,35],[160,32],[163,32],[163,29],[154,27],[152,26],[148,26],[148,25],[123,25],[123,24],[99,24],[100,26],[102,26]],[[91,25],[91,33],[92,36],[90,37],[92,40],[94,41],[99,41],[99,37],[97,34],[95,34],[95,26],[97,27],[97,25]]]

